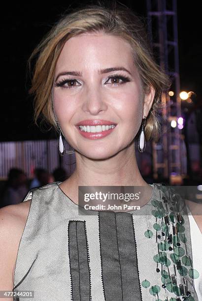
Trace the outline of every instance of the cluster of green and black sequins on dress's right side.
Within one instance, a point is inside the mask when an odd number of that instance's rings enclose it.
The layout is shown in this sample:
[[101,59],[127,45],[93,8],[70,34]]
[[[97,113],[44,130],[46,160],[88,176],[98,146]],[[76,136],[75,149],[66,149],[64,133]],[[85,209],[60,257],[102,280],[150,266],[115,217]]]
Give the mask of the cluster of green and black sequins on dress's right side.
[[[165,189],[165,192],[168,192],[167,187],[161,186],[161,190],[164,191],[164,189]],[[172,194],[172,192],[174,193],[174,191],[172,191],[171,189],[169,189],[169,190],[170,190],[171,194]],[[167,199],[168,199],[168,197],[167,197]],[[156,223],[153,224],[153,228],[156,231],[162,231],[162,232],[164,232],[163,233],[164,237],[166,237],[166,238],[169,237],[170,229],[169,229],[168,225],[166,225],[165,222],[163,222],[163,219],[162,219],[162,217],[164,218],[166,214],[168,215],[168,217],[167,218],[165,217],[165,221],[168,221],[168,219],[169,219],[169,221],[171,221],[171,223],[172,223],[172,224],[170,223],[170,226],[172,227],[172,225],[173,225],[173,226],[176,226],[176,228],[177,228],[175,231],[175,234],[172,235],[172,237],[171,237],[172,240],[171,241],[168,240],[170,243],[168,243],[167,240],[158,241],[158,251],[159,252],[157,255],[155,255],[153,257],[154,261],[157,264],[159,263],[159,264],[164,265],[164,269],[165,269],[166,267],[169,267],[171,265],[171,262],[167,257],[167,256],[169,256],[170,259],[172,260],[172,262],[174,264],[177,264],[176,271],[178,271],[178,273],[182,277],[189,275],[192,279],[199,278],[199,272],[197,270],[191,268],[191,267],[193,267],[191,258],[188,257],[187,255],[185,255],[184,247],[186,245],[184,245],[184,244],[187,243],[187,241],[188,241],[184,234],[185,227],[183,226],[183,224],[185,224],[185,219],[180,214],[181,222],[179,223],[179,221],[177,220],[176,212],[174,212],[174,211],[177,211],[177,212],[180,211],[177,209],[180,205],[178,202],[178,199],[176,200],[176,204],[172,204],[172,206],[171,206],[171,204],[169,205],[170,210],[171,210],[170,213],[166,212],[163,202],[159,202],[158,200],[152,200],[151,204],[155,207],[154,210],[152,210],[152,215],[156,217]],[[161,218],[161,221],[158,221],[157,218]],[[152,233],[152,235],[150,234],[150,232]],[[176,232],[178,233],[177,235],[176,235]],[[155,233],[155,234],[157,234],[157,233]],[[153,236],[153,232],[151,230],[147,230],[144,233],[144,235],[146,237],[150,238],[151,236]],[[158,239],[160,239],[160,238],[161,237],[158,236]],[[170,244],[173,244],[173,246]],[[166,251],[168,251],[170,246],[172,247],[172,249],[169,251],[172,251],[172,253],[166,252]],[[177,262],[177,260],[179,260],[179,262]],[[181,261],[181,264],[180,264],[180,261]],[[182,266],[182,264],[184,266]],[[189,269],[191,268],[189,271],[188,271],[188,267],[189,267]],[[157,268],[158,268],[158,265],[157,265]],[[162,266],[162,268],[163,268],[163,266]],[[159,272],[159,271],[157,271],[157,272]],[[159,275],[161,276],[162,283],[164,285],[166,285],[165,289],[167,289],[168,292],[174,293],[176,296],[180,297],[181,296],[180,288],[178,287],[177,284],[172,283],[169,273],[166,270],[163,270],[161,273],[159,272]],[[146,284],[149,281],[145,279],[144,282]],[[144,282],[142,282],[142,283],[144,283]],[[160,292],[160,290],[161,290],[161,288],[158,285],[154,285],[154,286],[150,287],[149,293],[152,296],[156,296],[156,294],[157,294],[157,298],[158,298],[159,297],[158,293]],[[177,297],[175,297],[175,298],[172,297],[169,299],[169,301],[176,301],[177,300],[176,298]],[[161,301],[160,299],[156,299],[156,298],[154,298],[154,299],[155,299],[155,301]],[[189,296],[189,297],[186,297],[186,300],[194,301],[194,298],[192,296]]]

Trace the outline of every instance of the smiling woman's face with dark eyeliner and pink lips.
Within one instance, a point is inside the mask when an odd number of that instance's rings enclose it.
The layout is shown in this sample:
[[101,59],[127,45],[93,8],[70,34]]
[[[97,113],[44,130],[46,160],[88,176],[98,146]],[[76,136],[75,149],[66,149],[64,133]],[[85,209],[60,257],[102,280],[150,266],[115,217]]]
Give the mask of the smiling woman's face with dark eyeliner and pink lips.
[[[53,86],[56,118],[67,142],[92,159],[110,157],[133,141],[143,115],[148,115],[153,92],[142,96],[131,46],[113,35],[72,37],[57,61]],[[95,127],[84,120],[93,121]],[[104,121],[99,124],[98,120]],[[77,124],[86,125],[87,132]],[[107,124],[116,126],[107,130]],[[96,128],[99,133],[89,132]]]

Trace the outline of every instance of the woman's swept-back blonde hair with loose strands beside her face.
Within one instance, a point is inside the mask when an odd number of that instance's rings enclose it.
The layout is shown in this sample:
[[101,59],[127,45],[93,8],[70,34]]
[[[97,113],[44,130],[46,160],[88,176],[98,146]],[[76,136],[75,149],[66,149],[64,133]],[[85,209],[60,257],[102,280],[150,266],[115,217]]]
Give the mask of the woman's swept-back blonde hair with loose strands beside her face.
[[162,95],[169,89],[170,81],[153,58],[144,24],[131,9],[119,4],[115,8],[86,5],[68,12],[36,46],[28,60],[31,72],[31,61],[38,55],[29,90],[30,94],[34,94],[34,122],[37,124],[41,116],[41,124],[46,121],[58,130],[52,101],[56,63],[66,41],[84,32],[103,32],[122,37],[130,43],[143,93],[147,93],[150,86],[155,90],[153,105],[147,117],[145,138],[158,141],[160,123],[157,112],[162,108]]

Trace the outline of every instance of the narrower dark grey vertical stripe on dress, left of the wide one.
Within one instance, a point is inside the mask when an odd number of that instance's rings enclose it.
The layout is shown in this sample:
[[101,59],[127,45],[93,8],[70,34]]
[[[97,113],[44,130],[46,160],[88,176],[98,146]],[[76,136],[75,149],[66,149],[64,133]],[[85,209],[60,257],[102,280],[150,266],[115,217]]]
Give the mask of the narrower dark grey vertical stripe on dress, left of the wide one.
[[89,301],[90,271],[84,221],[69,221],[69,263],[73,301]]

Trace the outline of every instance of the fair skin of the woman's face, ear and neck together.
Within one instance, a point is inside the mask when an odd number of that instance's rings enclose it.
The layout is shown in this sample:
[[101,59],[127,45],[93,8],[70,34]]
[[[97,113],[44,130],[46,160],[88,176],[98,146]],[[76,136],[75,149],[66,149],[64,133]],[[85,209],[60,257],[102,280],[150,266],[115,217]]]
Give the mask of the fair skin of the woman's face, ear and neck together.
[[[81,47],[82,45],[82,47]],[[123,66],[127,71],[99,74],[98,70]],[[65,71],[80,71],[81,76],[58,75]],[[129,77],[123,83],[107,76]],[[63,79],[74,78],[74,83],[56,87]],[[67,88],[73,86],[73,88]],[[150,87],[144,95],[135,67],[130,44],[120,37],[105,33],[85,33],[70,38],[57,61],[53,104],[55,116],[63,135],[75,149],[76,169],[61,189],[78,203],[78,185],[138,185],[146,186],[143,206],[153,188],[147,184],[138,169],[134,138],[144,116],[152,106],[155,91]],[[108,136],[90,140],[81,136],[75,127],[81,120],[104,119],[117,123]]]

